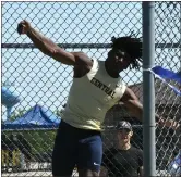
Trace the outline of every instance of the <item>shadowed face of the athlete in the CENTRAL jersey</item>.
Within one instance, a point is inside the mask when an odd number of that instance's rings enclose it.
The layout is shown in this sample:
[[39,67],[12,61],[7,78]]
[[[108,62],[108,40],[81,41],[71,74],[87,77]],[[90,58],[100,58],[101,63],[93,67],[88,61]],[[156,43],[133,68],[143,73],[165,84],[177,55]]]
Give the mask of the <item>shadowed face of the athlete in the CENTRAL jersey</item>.
[[126,52],[118,49],[111,50],[109,58],[111,59],[113,67],[119,72],[126,69],[131,63],[131,56]]

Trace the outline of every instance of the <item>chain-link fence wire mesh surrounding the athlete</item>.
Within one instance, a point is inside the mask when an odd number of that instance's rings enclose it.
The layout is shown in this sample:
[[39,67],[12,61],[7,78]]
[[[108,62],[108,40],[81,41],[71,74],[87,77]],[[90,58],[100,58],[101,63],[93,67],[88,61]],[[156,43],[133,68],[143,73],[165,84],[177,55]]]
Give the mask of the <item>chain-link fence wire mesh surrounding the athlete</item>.
[[[132,31],[142,37],[142,2],[1,3],[2,89],[10,91],[9,97],[12,97],[10,102],[2,105],[2,175],[25,172],[24,176],[37,176],[43,170],[48,176],[56,127],[53,124],[49,127],[41,126],[36,116],[48,108],[53,116],[61,117],[72,83],[72,68],[44,55],[26,36],[20,36],[16,33],[17,23],[25,18],[65,50],[83,51],[89,58],[105,60],[110,50],[111,37],[128,36]],[[179,72],[181,3],[155,3],[155,64]],[[142,71],[126,69],[121,73],[121,77],[142,101]],[[155,89],[156,112],[166,118],[179,121],[179,96],[158,79],[155,80]],[[34,113],[35,110],[37,114]],[[29,122],[21,119],[25,116],[31,116]],[[125,117],[137,125],[133,129],[132,143],[142,149],[141,123],[130,117],[121,105],[113,106],[107,113],[105,125],[116,125]],[[14,121],[17,121],[16,124],[12,124]],[[156,135],[157,172],[165,176],[168,164],[181,149],[181,138],[177,131],[159,126]],[[112,129],[106,128],[102,137],[104,150],[117,143]],[[34,175],[31,170],[35,172]]]

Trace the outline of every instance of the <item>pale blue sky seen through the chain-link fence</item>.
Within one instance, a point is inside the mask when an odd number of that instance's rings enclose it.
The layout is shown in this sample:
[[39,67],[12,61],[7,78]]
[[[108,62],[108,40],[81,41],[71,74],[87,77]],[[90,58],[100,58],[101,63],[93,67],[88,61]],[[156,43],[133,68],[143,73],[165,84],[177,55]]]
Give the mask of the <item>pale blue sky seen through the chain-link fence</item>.
[[[167,2],[155,8],[155,35],[158,43],[181,43],[180,4]],[[22,20],[56,43],[110,43],[111,37],[142,36],[141,2],[2,2],[2,43],[32,43],[16,33]],[[84,51],[89,58],[105,60],[109,49],[67,49]],[[21,102],[13,111],[28,110],[36,103],[51,111],[61,110],[72,83],[72,67],[62,65],[38,49],[2,49],[2,85],[13,83]],[[179,49],[156,49],[155,64],[178,72]],[[120,73],[126,85],[142,81],[142,71]],[[5,119],[2,106],[2,118]]]

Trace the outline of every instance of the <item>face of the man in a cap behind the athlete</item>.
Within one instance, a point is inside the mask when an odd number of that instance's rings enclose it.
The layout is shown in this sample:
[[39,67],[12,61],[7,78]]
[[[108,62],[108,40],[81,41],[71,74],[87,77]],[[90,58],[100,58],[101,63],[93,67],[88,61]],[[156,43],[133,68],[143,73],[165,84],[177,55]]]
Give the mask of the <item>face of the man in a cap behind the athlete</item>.
[[130,142],[131,137],[133,136],[133,131],[126,128],[122,128],[118,130],[118,140],[119,142]]

